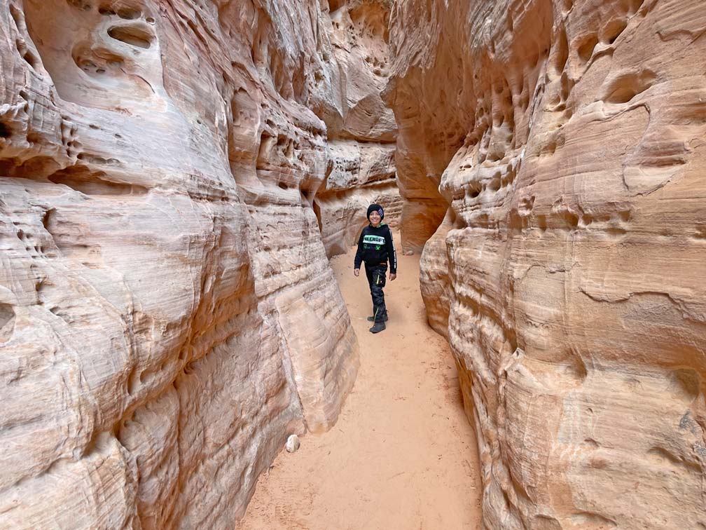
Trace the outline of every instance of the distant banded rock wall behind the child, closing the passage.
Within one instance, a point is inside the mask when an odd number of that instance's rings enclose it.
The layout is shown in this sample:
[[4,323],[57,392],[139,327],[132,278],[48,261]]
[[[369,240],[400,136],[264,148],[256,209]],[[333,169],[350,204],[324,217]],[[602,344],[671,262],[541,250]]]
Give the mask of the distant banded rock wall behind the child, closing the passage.
[[396,229],[402,198],[395,174],[397,125],[381,99],[388,83],[391,1],[328,4],[328,35],[342,97],[340,111],[317,110],[327,126],[329,162],[314,209],[326,252],[333,256],[357,242],[369,204],[381,204],[384,222]]

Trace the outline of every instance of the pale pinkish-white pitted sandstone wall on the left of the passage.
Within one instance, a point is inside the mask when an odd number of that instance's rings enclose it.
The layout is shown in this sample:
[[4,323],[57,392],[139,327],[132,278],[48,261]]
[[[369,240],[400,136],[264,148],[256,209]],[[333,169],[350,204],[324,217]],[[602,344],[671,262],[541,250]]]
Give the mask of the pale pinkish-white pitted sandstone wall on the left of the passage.
[[313,200],[329,129],[390,181],[395,129],[329,11],[0,1],[0,526],[225,528],[335,422],[357,343]]

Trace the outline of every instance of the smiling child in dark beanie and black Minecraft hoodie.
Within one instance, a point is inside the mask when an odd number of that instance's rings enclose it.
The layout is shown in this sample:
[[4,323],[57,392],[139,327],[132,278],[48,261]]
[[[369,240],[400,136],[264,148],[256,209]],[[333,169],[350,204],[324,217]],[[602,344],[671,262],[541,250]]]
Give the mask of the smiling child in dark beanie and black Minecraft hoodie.
[[380,333],[385,329],[388,311],[385,309],[385,273],[390,261],[390,281],[397,278],[397,254],[393,243],[393,232],[382,223],[385,217],[383,207],[379,204],[368,206],[370,224],[363,228],[358,240],[358,251],[355,253],[353,273],[360,274],[361,261],[365,261],[365,273],[370,284],[370,295],[373,298],[373,316],[368,320],[373,322],[371,333]]

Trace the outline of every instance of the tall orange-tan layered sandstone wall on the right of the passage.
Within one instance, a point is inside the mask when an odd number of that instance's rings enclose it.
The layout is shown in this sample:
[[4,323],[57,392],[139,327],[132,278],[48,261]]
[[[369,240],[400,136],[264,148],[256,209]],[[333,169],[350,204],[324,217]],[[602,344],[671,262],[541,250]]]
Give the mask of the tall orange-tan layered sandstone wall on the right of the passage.
[[705,526],[702,3],[409,0],[390,28],[486,526]]

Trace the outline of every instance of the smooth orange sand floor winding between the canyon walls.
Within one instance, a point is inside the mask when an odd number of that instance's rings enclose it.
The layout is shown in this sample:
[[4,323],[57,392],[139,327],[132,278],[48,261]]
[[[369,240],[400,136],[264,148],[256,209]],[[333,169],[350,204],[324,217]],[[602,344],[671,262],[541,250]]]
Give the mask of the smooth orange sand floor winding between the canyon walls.
[[[399,235],[396,235],[399,242]],[[330,432],[307,434],[258,483],[239,530],[473,529],[481,485],[448,344],[426,324],[419,256],[399,256],[373,335],[353,254],[331,260],[359,338],[361,367]]]

